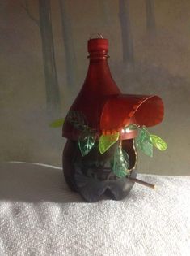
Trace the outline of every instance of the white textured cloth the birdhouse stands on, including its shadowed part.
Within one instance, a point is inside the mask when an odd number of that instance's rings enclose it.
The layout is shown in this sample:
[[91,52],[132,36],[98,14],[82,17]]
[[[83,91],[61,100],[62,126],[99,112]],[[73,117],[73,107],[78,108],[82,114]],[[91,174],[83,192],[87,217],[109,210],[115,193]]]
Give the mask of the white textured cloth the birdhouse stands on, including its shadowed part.
[[190,255],[189,176],[138,175],[115,202],[83,202],[60,168],[0,164],[0,255]]

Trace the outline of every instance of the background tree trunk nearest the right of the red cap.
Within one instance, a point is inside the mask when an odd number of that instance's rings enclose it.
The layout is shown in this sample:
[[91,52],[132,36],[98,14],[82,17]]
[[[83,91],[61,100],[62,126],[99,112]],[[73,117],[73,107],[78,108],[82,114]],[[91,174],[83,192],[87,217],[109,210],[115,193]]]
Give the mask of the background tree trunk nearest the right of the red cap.
[[129,17],[129,0],[119,1],[120,29],[123,45],[123,61],[130,66],[134,63],[133,37]]

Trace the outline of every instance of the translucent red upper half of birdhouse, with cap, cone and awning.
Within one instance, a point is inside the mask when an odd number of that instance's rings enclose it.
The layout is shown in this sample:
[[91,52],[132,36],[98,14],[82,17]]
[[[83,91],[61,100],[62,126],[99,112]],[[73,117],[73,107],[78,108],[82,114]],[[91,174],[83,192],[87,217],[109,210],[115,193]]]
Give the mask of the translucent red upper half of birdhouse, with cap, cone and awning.
[[[163,102],[158,96],[122,94],[108,67],[108,40],[88,41],[90,64],[87,77],[70,111],[79,111],[99,135],[112,134],[129,124],[154,126],[163,119]],[[63,137],[78,140],[78,131],[67,122]],[[130,132],[129,138],[136,136]]]

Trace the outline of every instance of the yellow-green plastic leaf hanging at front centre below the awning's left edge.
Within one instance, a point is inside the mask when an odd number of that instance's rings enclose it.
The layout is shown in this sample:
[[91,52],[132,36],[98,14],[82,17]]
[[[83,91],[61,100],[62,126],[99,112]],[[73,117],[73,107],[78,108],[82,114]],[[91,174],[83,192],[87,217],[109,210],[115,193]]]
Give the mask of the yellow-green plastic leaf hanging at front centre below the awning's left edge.
[[119,139],[119,132],[110,135],[102,135],[99,138],[99,152],[105,153]]

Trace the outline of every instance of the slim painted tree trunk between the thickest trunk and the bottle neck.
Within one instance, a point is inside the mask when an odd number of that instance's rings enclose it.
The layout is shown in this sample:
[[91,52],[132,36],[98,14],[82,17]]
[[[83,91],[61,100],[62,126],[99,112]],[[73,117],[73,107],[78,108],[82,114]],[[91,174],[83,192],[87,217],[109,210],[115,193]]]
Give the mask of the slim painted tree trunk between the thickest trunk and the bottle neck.
[[61,11],[62,37],[65,46],[65,68],[67,86],[72,90],[78,83],[76,56],[74,54],[74,41],[70,24],[70,15],[65,0],[59,0]]

